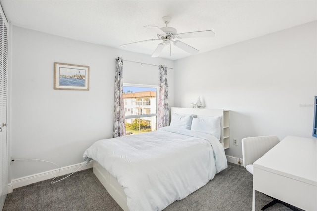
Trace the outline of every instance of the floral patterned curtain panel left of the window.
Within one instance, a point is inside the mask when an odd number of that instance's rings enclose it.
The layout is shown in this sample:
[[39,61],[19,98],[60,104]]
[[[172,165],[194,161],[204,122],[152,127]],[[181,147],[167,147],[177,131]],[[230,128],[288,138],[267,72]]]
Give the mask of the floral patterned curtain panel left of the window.
[[113,137],[125,136],[123,101],[123,59],[117,58],[114,79],[114,127]]

